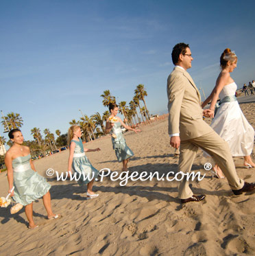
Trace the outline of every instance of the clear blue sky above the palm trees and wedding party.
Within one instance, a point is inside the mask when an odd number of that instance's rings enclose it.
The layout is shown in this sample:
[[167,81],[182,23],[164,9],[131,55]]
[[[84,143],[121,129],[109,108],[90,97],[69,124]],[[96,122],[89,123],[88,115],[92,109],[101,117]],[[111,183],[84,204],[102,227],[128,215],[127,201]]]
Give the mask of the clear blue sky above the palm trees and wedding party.
[[241,88],[255,79],[254,9],[249,0],[0,0],[0,110],[21,115],[26,140],[34,127],[66,133],[79,110],[104,113],[105,90],[128,104],[144,84],[149,113],[167,113],[180,42],[189,43],[188,71],[206,96],[227,47],[238,56],[231,76]]

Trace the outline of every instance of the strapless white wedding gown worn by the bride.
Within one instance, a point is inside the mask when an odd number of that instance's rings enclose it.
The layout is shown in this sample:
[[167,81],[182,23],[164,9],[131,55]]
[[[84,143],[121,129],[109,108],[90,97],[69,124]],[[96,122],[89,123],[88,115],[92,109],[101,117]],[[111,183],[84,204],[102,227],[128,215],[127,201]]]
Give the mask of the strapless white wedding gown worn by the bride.
[[[235,82],[223,87],[219,98],[235,95]],[[223,102],[210,126],[228,142],[232,156],[250,156],[254,145],[254,129],[248,123],[237,101]]]

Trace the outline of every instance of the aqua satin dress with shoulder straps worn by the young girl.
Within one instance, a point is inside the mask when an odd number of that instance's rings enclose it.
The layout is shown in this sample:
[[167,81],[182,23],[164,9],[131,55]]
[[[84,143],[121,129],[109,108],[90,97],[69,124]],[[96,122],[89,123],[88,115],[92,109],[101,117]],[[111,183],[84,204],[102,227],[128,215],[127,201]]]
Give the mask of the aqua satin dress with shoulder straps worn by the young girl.
[[73,154],[72,171],[76,175],[76,180],[79,185],[88,184],[93,178],[97,178],[99,171],[93,167],[85,155],[82,139],[79,141],[71,140],[75,142],[75,150]]

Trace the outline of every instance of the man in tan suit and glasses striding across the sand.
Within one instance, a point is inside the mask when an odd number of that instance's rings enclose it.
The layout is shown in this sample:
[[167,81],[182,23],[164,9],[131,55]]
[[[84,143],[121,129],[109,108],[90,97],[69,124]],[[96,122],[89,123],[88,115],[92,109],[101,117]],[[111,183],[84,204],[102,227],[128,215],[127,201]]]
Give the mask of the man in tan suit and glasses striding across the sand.
[[[180,147],[178,171],[190,172],[197,150],[202,148],[219,163],[234,194],[254,190],[254,183],[246,183],[237,176],[228,143],[203,120],[203,114],[210,117],[213,110],[202,110],[199,91],[186,71],[193,60],[189,45],[175,45],[172,60],[175,68],[167,79],[169,135],[170,145],[175,149]],[[179,184],[179,198],[185,203],[201,201],[205,196],[193,195],[189,181],[184,178]]]

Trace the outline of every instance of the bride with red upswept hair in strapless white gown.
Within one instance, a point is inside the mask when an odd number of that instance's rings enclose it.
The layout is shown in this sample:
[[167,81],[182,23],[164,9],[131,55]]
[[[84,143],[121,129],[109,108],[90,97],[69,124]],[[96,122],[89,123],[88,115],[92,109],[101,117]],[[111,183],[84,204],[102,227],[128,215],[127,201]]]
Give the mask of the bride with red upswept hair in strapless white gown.
[[[220,106],[217,108],[217,113],[213,115],[214,119],[210,127],[228,142],[232,156],[244,156],[243,165],[247,168],[252,168],[255,167],[255,163],[250,156],[254,145],[254,129],[243,115],[235,97],[237,86],[230,77],[230,73],[234,71],[237,63],[234,51],[228,48],[225,49],[221,54],[220,63],[221,73],[219,73],[212,93],[203,102],[202,108],[211,101],[209,109],[214,110],[217,99],[218,97],[220,98]],[[217,165],[215,165],[214,170],[219,178],[223,177]]]

